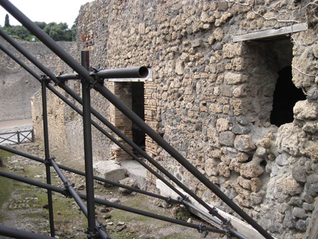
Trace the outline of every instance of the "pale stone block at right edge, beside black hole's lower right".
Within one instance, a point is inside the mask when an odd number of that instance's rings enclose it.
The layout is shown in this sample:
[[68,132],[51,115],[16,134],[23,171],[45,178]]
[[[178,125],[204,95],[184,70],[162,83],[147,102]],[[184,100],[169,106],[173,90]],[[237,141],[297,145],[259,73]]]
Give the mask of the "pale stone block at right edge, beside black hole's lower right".
[[297,120],[317,120],[318,105],[307,100],[298,101],[294,106],[294,118]]

